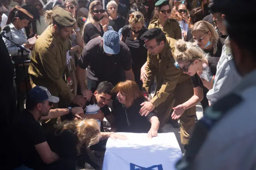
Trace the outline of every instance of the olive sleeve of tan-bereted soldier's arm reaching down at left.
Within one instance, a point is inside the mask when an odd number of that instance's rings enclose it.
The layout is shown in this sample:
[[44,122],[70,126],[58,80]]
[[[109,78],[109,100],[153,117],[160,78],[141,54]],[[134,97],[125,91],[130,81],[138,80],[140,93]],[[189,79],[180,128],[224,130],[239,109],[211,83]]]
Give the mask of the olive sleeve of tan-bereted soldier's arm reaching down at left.
[[68,85],[60,75],[56,53],[47,47],[41,47],[38,50],[38,57],[44,69],[44,71],[41,72],[42,76],[49,77],[54,83],[54,86],[56,86],[60,99],[64,100],[65,103],[69,102],[70,104],[74,95],[70,92]]

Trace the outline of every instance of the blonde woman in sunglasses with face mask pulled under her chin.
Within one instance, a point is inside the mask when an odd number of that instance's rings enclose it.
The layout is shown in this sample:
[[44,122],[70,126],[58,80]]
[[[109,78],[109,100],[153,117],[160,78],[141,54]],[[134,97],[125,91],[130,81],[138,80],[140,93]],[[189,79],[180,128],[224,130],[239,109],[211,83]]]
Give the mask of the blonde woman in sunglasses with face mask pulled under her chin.
[[191,28],[191,32],[193,39],[204,52],[209,53],[211,57],[220,57],[223,44],[212,24],[198,21]]

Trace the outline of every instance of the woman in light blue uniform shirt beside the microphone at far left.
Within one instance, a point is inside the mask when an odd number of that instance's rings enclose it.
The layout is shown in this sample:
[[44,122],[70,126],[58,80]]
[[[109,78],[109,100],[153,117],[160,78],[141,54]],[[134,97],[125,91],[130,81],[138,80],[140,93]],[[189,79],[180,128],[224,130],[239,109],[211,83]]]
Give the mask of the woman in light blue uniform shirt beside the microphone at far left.
[[[33,19],[33,16],[25,9],[20,6],[15,6],[8,16],[7,25],[10,27],[10,32],[4,34],[9,37],[10,40],[22,44],[25,48],[29,49],[34,46],[34,44],[28,43],[25,28],[28,22]],[[35,36],[36,37],[36,36]],[[16,47],[14,43],[10,42],[6,38],[3,38],[5,45],[8,49],[9,54],[12,56],[12,60],[15,63],[21,63],[22,59],[18,57],[19,47]],[[24,51],[24,61],[29,60],[29,55]]]

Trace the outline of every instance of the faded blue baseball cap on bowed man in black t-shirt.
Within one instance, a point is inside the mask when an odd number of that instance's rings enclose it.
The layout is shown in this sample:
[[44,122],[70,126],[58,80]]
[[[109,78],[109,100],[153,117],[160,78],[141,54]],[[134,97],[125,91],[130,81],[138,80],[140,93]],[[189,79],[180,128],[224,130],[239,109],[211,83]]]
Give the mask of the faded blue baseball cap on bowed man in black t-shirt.
[[110,30],[103,35],[103,49],[108,54],[118,54],[120,51],[118,33]]

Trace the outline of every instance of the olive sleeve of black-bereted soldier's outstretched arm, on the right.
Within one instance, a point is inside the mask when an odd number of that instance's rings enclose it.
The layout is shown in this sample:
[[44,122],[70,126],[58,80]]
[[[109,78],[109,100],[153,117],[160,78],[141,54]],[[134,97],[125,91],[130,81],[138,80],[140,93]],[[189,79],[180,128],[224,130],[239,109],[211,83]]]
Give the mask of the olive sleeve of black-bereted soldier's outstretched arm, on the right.
[[168,68],[165,71],[162,86],[160,90],[156,93],[156,96],[154,96],[153,99],[150,101],[156,107],[163,103],[170,95],[170,93],[174,91],[182,73],[180,69],[177,69],[174,66],[174,63],[171,61],[171,59],[169,59],[167,62]]

